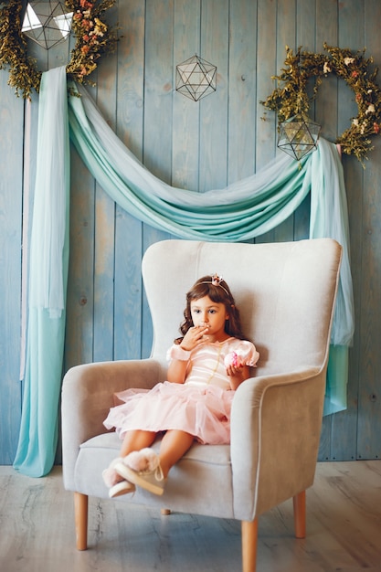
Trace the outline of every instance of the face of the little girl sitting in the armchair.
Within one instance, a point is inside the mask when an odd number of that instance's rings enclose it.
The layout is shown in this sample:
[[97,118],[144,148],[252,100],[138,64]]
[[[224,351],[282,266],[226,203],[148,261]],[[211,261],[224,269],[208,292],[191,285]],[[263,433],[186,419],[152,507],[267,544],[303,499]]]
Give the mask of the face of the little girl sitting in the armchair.
[[193,324],[196,327],[207,326],[206,335],[213,340],[225,334],[225,323],[228,320],[228,312],[222,302],[213,302],[209,296],[192,300],[190,310]]

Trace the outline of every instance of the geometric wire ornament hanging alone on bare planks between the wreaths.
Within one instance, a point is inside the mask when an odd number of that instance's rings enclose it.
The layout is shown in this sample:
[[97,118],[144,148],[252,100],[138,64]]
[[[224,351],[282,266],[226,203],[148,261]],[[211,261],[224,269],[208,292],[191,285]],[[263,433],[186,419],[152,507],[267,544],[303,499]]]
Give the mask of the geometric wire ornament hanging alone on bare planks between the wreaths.
[[217,67],[193,56],[176,66],[176,91],[198,101],[216,91]]

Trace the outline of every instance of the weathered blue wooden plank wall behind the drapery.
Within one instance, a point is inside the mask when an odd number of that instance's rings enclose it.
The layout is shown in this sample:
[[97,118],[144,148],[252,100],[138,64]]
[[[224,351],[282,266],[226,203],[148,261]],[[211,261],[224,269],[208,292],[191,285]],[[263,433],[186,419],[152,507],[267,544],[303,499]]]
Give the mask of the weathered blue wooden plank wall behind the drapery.
[[[122,38],[103,58],[93,97],[132,152],[165,182],[194,191],[224,187],[252,174],[277,152],[276,118],[262,121],[285,46],[322,51],[323,42],[367,48],[381,63],[378,0],[119,0],[110,11]],[[48,55],[59,65],[68,47]],[[217,65],[217,92],[195,103],[174,91],[175,65],[198,53]],[[356,115],[353,93],[325,79],[314,117],[334,140]],[[32,103],[36,138],[37,98]],[[0,463],[16,451],[22,387],[20,352],[24,105],[0,73]],[[355,288],[355,342],[348,409],[324,418],[321,460],[381,455],[381,144],[364,170],[344,157]],[[34,172],[32,164],[30,170]],[[65,368],[83,362],[147,356],[152,342],[141,281],[145,249],[169,235],[130,217],[72,151],[70,267]],[[309,199],[259,242],[305,238]],[[175,333],[174,333],[175,335]]]

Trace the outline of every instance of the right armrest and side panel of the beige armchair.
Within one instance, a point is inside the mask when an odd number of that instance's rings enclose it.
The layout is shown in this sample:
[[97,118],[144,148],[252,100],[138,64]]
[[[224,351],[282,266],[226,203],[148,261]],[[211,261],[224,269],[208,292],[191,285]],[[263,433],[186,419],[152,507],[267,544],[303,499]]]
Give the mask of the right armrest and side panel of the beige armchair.
[[312,485],[324,389],[325,367],[238,387],[231,411],[235,518],[251,521]]

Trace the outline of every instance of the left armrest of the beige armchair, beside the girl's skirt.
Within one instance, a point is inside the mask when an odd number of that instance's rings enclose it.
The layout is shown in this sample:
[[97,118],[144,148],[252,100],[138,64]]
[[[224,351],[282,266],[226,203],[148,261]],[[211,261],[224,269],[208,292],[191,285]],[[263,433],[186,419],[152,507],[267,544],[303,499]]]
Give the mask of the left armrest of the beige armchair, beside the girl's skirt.
[[62,465],[65,487],[71,490],[81,443],[106,433],[103,425],[113,395],[129,387],[150,389],[159,381],[162,365],[153,359],[76,365],[62,384]]

